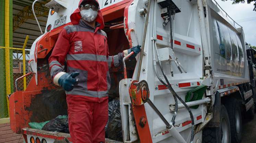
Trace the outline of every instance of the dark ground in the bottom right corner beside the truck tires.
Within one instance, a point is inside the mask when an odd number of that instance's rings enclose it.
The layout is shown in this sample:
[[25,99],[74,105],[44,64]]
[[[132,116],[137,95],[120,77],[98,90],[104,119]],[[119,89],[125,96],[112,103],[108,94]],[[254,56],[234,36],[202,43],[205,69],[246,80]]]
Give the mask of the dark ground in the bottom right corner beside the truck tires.
[[256,116],[253,120],[243,120],[242,143],[256,143]]

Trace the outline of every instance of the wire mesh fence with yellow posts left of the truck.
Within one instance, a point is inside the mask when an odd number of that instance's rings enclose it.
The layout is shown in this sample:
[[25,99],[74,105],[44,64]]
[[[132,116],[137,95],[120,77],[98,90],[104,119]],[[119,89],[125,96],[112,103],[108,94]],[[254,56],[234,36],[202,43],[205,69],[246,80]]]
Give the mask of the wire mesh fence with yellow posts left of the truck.
[[[7,60],[7,52],[10,53],[9,60]],[[23,54],[25,56],[23,56]],[[13,93],[17,90],[24,91],[24,78],[18,78],[24,74],[29,73],[28,61],[29,50],[25,50],[23,53],[23,50],[19,48],[0,47],[0,97],[2,97],[0,98],[0,118],[9,117],[7,102],[8,91],[10,91],[10,93]],[[23,62],[25,62],[25,72],[23,71]],[[10,68],[10,72],[6,72],[8,71],[7,67]],[[32,77],[33,75],[26,77],[26,85],[29,84],[29,81],[32,79]],[[17,82],[15,83],[16,80]]]

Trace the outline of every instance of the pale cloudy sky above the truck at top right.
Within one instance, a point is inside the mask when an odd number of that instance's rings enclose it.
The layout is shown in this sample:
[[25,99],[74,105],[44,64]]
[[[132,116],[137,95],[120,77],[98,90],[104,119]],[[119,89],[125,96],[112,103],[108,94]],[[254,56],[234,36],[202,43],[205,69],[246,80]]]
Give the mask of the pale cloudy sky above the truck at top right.
[[253,11],[254,2],[251,2],[251,4],[247,4],[247,2],[232,4],[231,0],[224,2],[221,0],[216,1],[232,19],[243,27],[245,41],[252,44],[252,46],[256,46],[256,11]]

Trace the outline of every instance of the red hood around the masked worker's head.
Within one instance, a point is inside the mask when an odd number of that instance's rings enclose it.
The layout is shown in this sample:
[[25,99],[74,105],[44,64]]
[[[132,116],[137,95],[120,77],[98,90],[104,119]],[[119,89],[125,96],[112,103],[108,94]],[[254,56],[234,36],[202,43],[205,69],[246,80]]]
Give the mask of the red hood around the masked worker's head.
[[[80,19],[82,18],[82,17],[81,17],[81,14],[80,14],[80,8],[79,8],[79,6],[80,6],[81,3],[84,2],[84,1],[88,1],[88,0],[80,0],[80,2],[79,2],[79,4],[78,4],[78,8],[70,15],[70,20],[71,20],[71,22],[72,22],[73,25],[78,25]],[[97,2],[97,3],[99,4],[98,0],[93,0],[93,1],[95,1],[95,2]],[[98,15],[97,15],[97,18],[96,18],[95,20],[96,20],[96,22],[100,23],[99,29],[103,29],[103,28],[105,27],[105,25],[104,25],[104,20],[103,20],[103,16],[102,16],[102,13],[101,13],[100,10],[98,11]]]

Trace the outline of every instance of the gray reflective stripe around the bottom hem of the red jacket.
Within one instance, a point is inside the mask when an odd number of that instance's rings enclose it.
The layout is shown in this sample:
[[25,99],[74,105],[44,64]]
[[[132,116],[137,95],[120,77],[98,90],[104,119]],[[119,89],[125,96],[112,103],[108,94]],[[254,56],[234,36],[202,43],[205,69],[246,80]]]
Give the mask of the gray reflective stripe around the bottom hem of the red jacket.
[[66,91],[66,94],[102,98],[108,96],[108,91],[88,91],[74,88],[72,91]]

